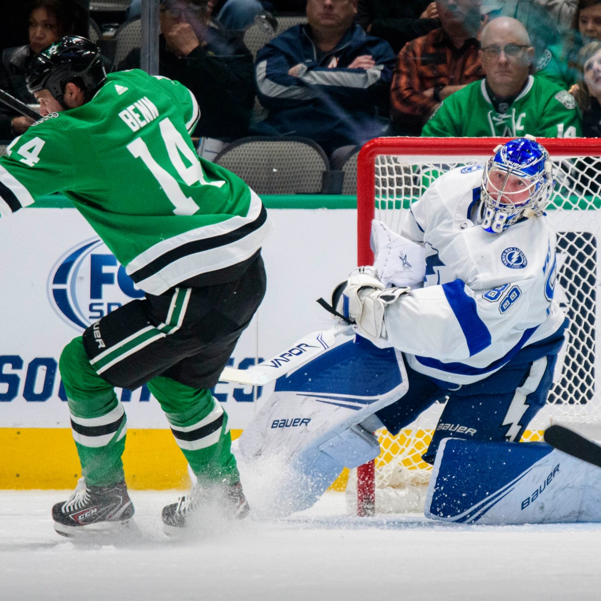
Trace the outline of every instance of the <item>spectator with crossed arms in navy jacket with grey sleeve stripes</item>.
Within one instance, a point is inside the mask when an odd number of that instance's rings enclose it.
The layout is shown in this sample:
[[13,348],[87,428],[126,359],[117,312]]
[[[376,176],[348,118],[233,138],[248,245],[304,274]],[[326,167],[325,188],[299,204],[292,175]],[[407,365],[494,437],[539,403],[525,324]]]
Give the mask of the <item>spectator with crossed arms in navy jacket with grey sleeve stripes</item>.
[[269,114],[254,133],[304,136],[331,154],[387,131],[394,53],[353,25],[356,11],[357,0],[308,0],[308,23],[258,51],[257,95]]

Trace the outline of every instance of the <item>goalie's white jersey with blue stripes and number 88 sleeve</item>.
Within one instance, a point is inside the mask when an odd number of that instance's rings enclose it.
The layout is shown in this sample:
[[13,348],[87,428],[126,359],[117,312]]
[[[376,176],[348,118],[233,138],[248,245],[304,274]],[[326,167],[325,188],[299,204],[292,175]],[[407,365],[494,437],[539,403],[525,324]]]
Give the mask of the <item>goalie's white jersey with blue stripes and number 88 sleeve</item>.
[[423,243],[422,288],[386,309],[388,343],[416,371],[466,384],[489,376],[554,334],[556,236],[543,215],[500,234],[478,218],[483,166],[442,175],[403,216],[400,234]]

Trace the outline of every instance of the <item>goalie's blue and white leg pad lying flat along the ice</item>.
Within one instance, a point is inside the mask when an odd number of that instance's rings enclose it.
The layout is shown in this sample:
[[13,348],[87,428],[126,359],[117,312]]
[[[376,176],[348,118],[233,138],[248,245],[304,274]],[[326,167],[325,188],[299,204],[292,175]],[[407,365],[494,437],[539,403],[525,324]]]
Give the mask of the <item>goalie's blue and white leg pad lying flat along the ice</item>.
[[601,522],[601,468],[544,442],[445,438],[425,514],[489,525]]

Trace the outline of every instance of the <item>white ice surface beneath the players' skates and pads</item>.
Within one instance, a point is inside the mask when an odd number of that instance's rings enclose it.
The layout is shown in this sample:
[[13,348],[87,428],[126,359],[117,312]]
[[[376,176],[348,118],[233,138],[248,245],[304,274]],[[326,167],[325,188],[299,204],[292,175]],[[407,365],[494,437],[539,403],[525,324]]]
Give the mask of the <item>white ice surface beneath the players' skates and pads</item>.
[[348,516],[342,493],[282,520],[214,524],[172,540],[160,510],[178,492],[130,492],[136,529],[77,543],[52,529],[70,491],[0,491],[2,601],[601,597],[601,525],[462,526]]

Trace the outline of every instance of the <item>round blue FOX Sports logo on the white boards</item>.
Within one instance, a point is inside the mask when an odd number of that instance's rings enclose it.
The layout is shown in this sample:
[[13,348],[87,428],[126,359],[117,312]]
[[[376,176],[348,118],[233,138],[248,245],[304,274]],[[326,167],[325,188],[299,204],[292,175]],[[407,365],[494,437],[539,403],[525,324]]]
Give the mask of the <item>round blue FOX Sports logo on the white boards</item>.
[[47,293],[58,316],[79,331],[144,296],[98,238],[79,243],[59,258],[48,277]]

